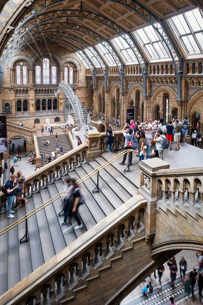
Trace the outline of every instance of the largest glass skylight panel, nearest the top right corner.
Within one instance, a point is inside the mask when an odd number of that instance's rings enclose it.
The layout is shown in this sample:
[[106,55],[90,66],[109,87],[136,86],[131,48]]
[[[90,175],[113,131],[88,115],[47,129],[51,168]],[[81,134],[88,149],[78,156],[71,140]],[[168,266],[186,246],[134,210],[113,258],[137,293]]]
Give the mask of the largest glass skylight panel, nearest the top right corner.
[[187,56],[203,53],[203,17],[199,9],[170,19]]

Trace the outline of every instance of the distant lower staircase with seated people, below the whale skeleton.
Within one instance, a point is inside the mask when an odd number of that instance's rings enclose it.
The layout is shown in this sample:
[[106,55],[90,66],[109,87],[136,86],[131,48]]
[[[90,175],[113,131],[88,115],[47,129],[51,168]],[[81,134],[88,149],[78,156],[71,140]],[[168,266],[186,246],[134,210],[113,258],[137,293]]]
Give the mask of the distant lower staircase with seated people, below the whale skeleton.
[[[49,156],[52,156],[52,151],[56,151],[56,140],[55,135],[49,136],[49,133],[46,133],[45,136],[37,137],[38,140],[38,147],[39,147],[39,153],[45,154],[47,153]],[[44,145],[44,141],[49,140],[49,146]],[[63,147],[63,154],[67,153],[67,151],[70,151],[73,149],[73,146],[71,144],[71,141],[69,137],[67,137],[65,134],[58,135],[58,147],[60,150],[60,147]],[[45,164],[48,164],[48,160],[42,160],[42,166]]]

